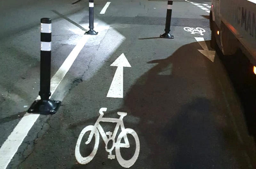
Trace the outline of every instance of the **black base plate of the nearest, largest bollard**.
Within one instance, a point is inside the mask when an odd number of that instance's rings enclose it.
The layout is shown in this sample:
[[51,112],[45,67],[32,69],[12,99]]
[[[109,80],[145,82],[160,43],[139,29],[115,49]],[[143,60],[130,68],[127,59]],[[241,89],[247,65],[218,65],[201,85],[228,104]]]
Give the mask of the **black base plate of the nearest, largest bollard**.
[[47,100],[35,100],[28,109],[28,113],[35,114],[54,114],[60,107],[60,101],[51,99]]

